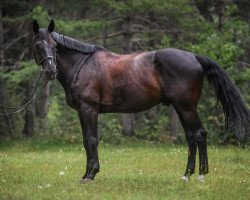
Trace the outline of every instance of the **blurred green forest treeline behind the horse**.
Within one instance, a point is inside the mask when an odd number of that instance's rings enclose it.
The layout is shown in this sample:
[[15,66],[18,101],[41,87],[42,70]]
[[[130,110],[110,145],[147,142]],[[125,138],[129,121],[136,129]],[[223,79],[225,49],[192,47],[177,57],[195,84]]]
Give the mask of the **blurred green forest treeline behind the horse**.
[[[3,0],[0,104],[16,106],[31,98],[39,76],[32,21],[47,27],[54,19],[56,32],[116,53],[173,47],[207,55],[228,72],[250,105],[249,11],[248,0]],[[0,107],[1,113],[11,111]],[[225,135],[221,106],[206,81],[199,113],[210,142],[235,140],[233,133]],[[77,113],[66,105],[57,81],[25,112],[0,116],[1,139],[36,135],[81,140]],[[173,108],[162,105],[132,115],[100,115],[99,135],[100,140],[116,143],[125,140],[124,135],[163,142],[185,138]]]

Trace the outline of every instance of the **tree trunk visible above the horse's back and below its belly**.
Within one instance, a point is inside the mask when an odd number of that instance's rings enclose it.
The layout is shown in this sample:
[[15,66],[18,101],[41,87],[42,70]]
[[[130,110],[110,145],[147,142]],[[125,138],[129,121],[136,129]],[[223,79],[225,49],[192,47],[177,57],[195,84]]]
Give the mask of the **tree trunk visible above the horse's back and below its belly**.
[[[133,46],[133,35],[132,35],[132,19],[127,16],[124,19],[123,24],[124,39],[123,39],[123,50],[124,53],[131,53]],[[124,136],[134,135],[134,114],[122,114],[122,134]]]

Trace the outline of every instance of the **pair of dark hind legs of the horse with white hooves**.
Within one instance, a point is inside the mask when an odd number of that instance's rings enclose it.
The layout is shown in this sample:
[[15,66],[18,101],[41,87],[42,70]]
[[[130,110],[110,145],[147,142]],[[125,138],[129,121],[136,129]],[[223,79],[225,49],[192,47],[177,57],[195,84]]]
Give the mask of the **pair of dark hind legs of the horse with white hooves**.
[[186,138],[189,145],[189,156],[187,168],[184,177],[194,173],[196,147],[199,149],[199,177],[200,181],[204,180],[204,174],[208,173],[207,158],[207,133],[197,113],[196,107],[175,105],[175,108],[182,121]]

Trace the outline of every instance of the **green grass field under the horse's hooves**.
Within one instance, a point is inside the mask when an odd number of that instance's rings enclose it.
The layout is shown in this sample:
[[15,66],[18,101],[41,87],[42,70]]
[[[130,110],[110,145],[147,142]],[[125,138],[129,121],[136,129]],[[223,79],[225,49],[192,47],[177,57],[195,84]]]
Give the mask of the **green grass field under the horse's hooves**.
[[210,173],[182,182],[185,146],[100,143],[101,171],[81,184],[81,144],[0,144],[0,199],[250,199],[250,152],[208,147]]

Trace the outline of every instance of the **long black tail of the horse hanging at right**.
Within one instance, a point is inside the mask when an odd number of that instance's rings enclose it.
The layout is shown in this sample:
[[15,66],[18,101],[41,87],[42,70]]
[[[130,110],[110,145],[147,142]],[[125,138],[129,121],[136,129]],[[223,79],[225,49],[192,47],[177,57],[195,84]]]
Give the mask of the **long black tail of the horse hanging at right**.
[[217,99],[222,104],[226,128],[234,131],[238,139],[247,139],[250,134],[250,111],[235,84],[216,62],[203,56],[195,57],[203,67],[209,83],[215,89]]

